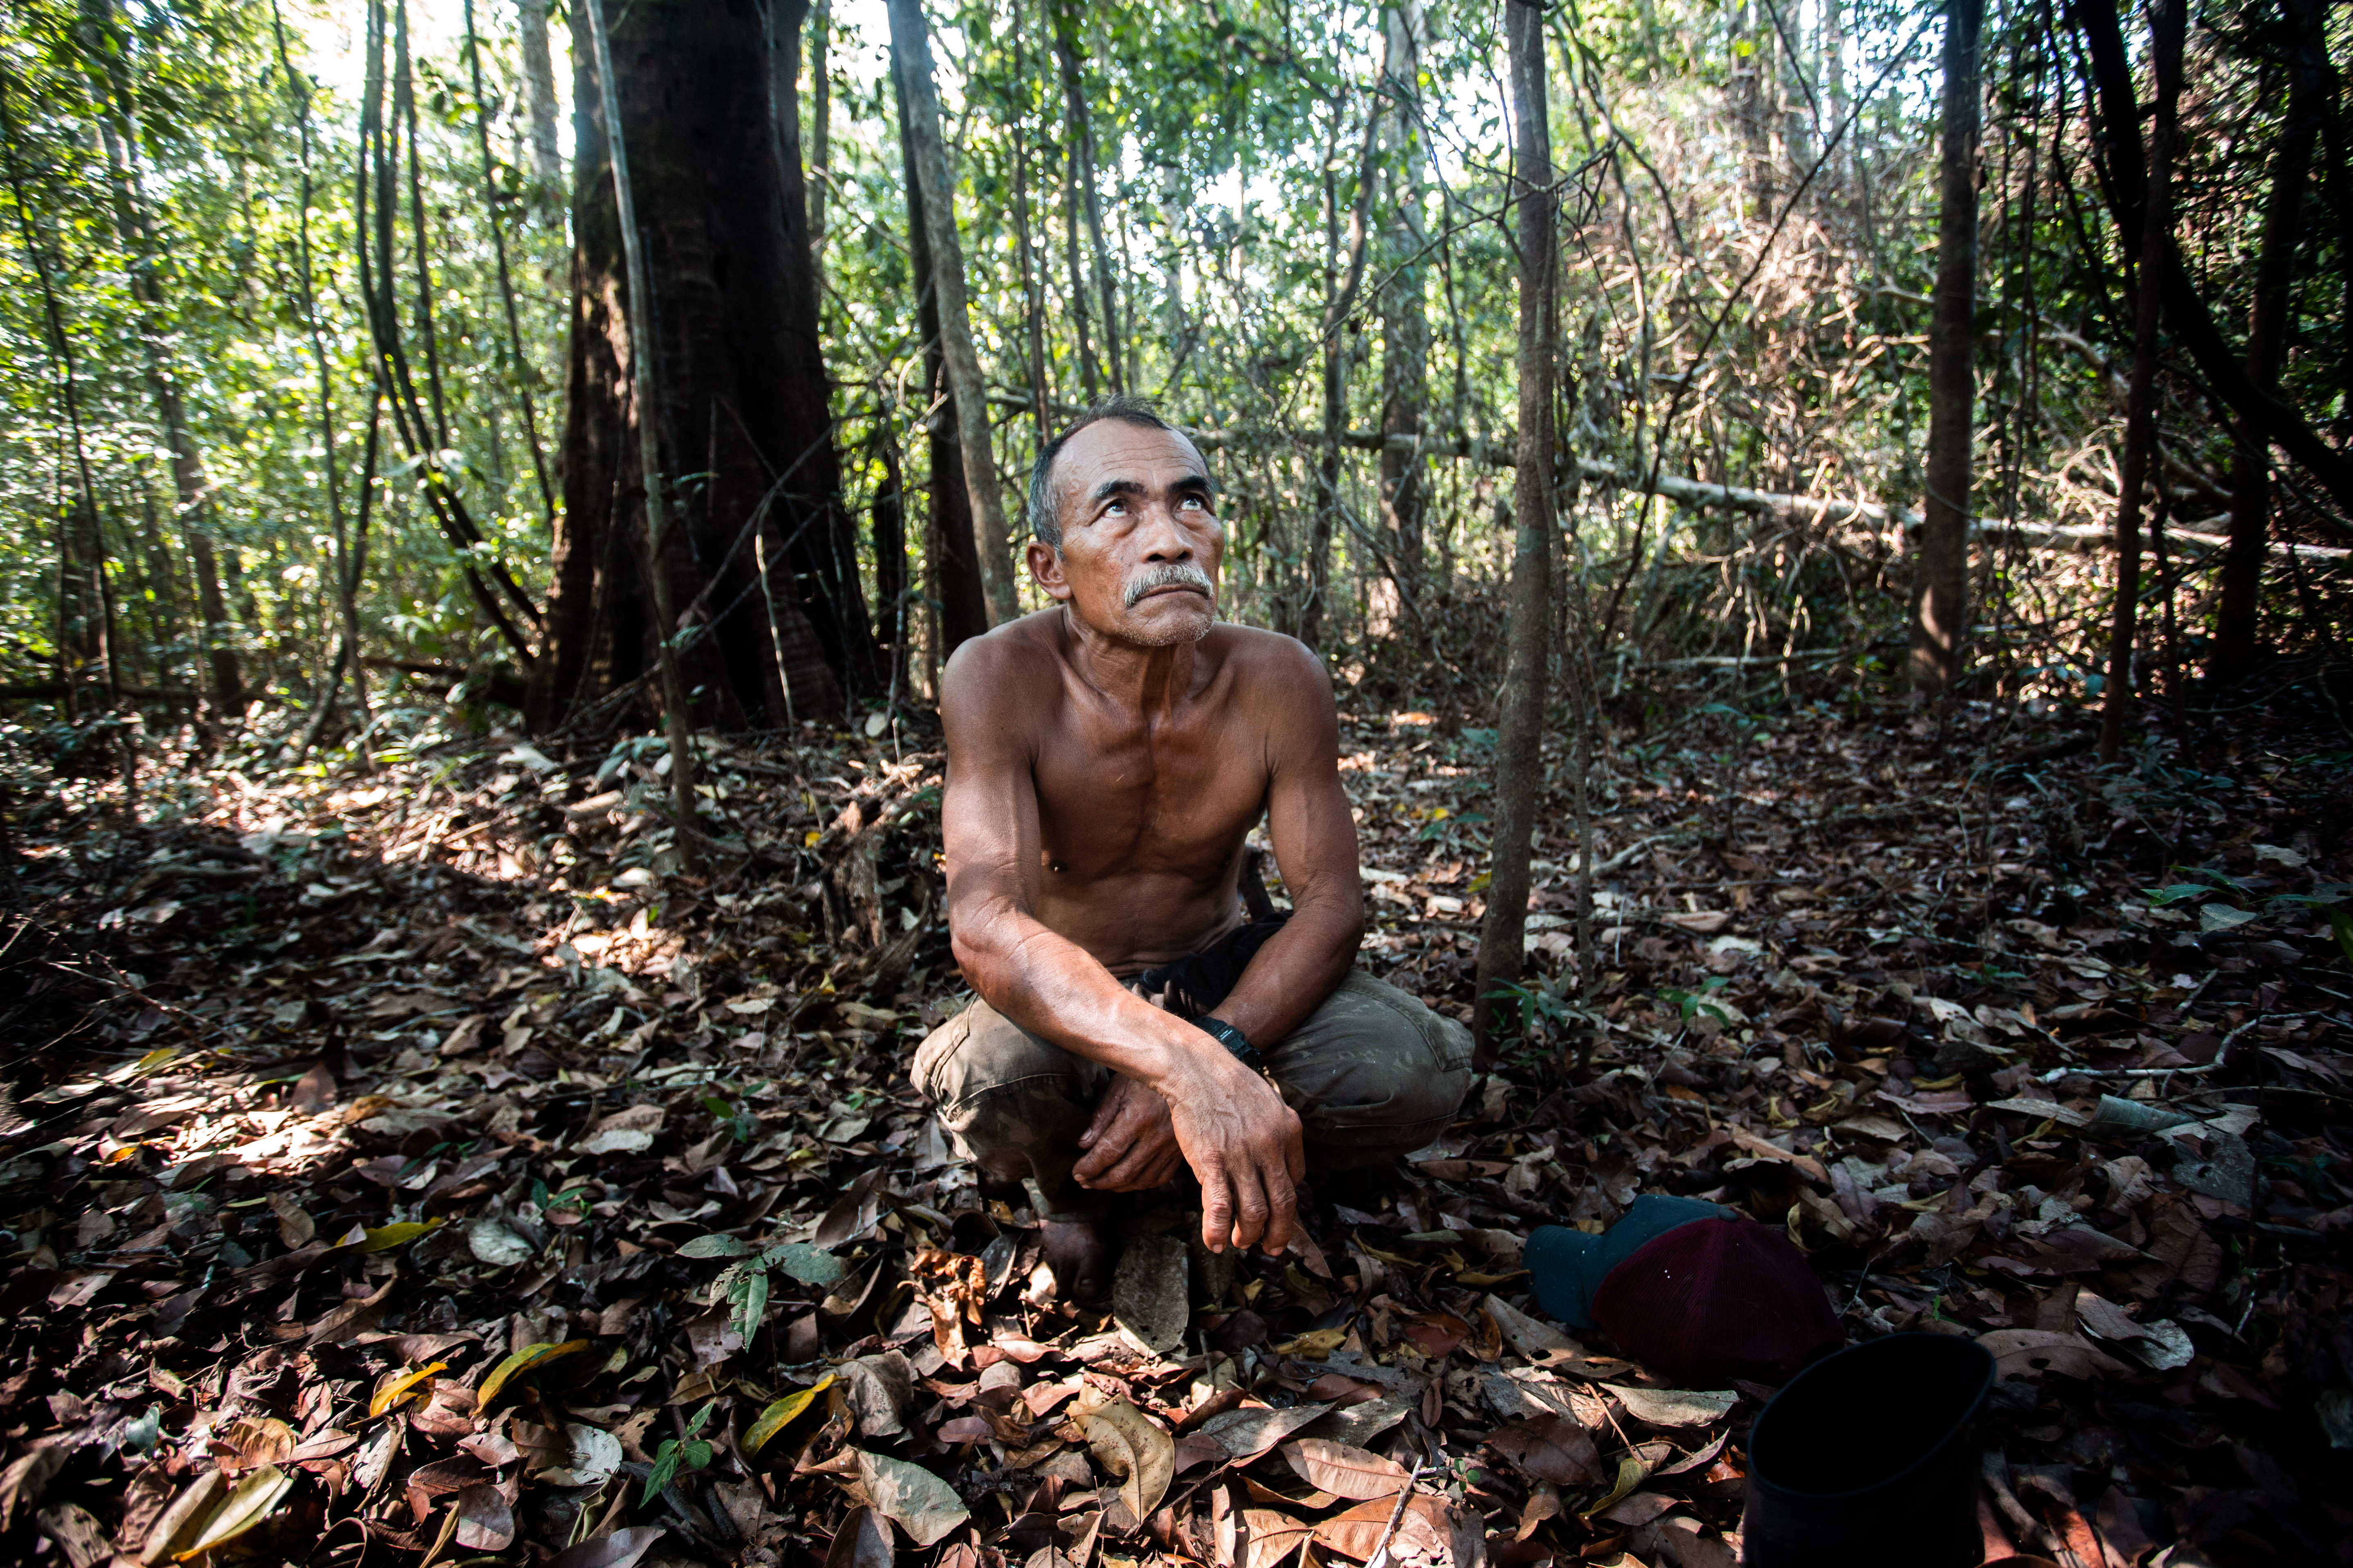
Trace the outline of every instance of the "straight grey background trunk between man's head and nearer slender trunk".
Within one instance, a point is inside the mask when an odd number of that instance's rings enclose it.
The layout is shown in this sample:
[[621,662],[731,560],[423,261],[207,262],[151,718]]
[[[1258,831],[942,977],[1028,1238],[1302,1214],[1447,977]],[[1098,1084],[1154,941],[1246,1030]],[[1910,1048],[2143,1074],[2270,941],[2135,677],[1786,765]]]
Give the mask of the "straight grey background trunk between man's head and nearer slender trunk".
[[[1381,531],[1388,541],[1398,602],[1409,623],[1421,611],[1421,510],[1428,458],[1421,456],[1421,421],[1428,404],[1431,317],[1421,266],[1421,0],[1398,0],[1388,9],[1384,78],[1398,94],[1388,120],[1388,263],[1381,289]],[[1419,635],[1417,635],[1419,642]]]

